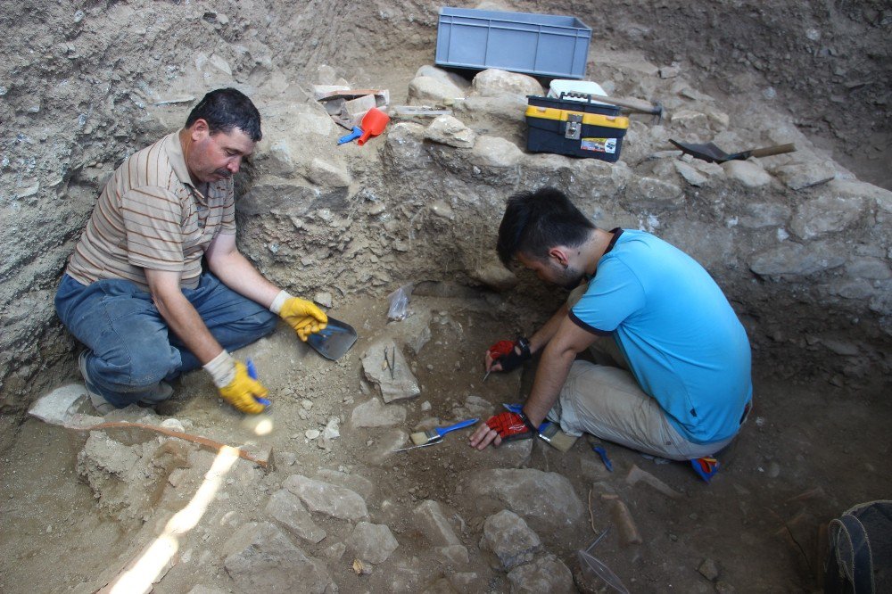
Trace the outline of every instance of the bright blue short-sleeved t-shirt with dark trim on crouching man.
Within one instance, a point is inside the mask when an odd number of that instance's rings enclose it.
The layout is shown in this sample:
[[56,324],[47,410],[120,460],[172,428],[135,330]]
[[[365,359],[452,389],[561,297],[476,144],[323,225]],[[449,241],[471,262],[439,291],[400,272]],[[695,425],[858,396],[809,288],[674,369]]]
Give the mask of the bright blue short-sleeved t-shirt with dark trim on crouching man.
[[690,441],[738,431],[753,394],[747,333],[688,254],[643,231],[615,230],[570,318],[614,336],[641,388]]

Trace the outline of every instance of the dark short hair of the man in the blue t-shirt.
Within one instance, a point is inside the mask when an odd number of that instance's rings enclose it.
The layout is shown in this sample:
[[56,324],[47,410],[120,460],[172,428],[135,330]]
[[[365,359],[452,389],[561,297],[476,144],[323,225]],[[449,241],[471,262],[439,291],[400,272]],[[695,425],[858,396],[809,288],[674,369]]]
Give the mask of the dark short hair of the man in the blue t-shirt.
[[582,245],[596,228],[566,194],[556,188],[520,192],[508,198],[505,216],[499,226],[496,252],[505,266],[518,252],[545,260],[552,247]]

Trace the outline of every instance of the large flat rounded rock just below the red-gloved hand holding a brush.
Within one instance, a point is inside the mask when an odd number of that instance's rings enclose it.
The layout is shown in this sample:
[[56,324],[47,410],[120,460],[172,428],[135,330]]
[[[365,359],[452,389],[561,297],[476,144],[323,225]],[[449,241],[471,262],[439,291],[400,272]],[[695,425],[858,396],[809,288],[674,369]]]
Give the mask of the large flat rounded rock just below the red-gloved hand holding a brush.
[[582,518],[582,501],[566,477],[557,473],[497,468],[468,474],[463,484],[471,495],[498,499],[533,526],[562,530]]

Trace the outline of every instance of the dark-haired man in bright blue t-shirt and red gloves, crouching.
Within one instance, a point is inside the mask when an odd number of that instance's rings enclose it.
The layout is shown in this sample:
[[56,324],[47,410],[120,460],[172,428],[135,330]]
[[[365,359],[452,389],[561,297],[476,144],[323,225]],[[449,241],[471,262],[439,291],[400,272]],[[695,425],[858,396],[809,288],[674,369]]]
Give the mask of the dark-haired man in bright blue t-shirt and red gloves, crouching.
[[[576,288],[529,339],[487,351],[488,371],[538,351],[541,363],[521,411],[491,417],[472,446],[532,436],[546,418],[676,460],[731,442],[752,400],[749,342],[695,260],[643,231],[599,229],[549,188],[508,199],[497,251],[506,265],[516,258],[541,280]],[[597,364],[576,360],[586,349]]]

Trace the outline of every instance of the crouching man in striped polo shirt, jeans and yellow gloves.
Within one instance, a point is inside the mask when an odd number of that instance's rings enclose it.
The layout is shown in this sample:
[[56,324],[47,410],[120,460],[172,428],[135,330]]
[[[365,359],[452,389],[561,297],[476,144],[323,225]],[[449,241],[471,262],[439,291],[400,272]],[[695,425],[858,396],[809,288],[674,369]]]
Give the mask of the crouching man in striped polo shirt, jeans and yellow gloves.
[[260,137],[247,96],[211,91],[185,128],[131,155],[105,185],[55,297],[87,347],[78,363],[101,413],[167,400],[168,382],[199,366],[227,402],[259,413],[267,390],[229,351],[271,333],[274,314],[303,341],[325,328],[325,313],[235,247],[232,176]]

